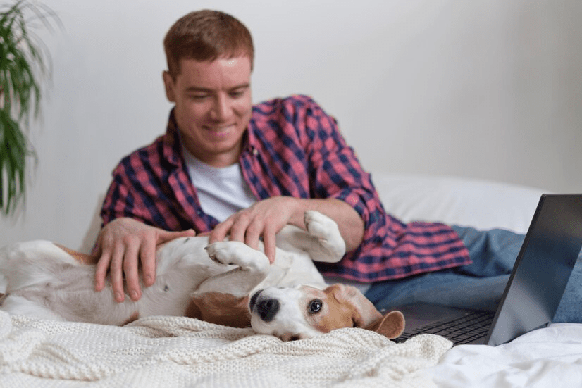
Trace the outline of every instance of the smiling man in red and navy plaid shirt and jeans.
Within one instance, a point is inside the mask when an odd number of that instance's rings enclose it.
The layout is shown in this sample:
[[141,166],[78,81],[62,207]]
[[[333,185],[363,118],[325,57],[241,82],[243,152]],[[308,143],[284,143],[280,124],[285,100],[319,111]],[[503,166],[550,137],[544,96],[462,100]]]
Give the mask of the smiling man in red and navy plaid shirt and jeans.
[[[252,106],[252,38],[230,15],[185,15],[164,46],[163,82],[175,107],[166,134],[113,172],[101,211],[98,291],[110,270],[116,301],[125,299],[123,275],[130,298],[140,299],[139,263],[148,287],[156,244],[185,235],[209,232],[212,242],[230,234],[252,247],[263,239],[273,261],[276,232],[304,227],[304,211],[314,209],[338,223],[348,251],[340,263],[316,263],[319,270],[357,282],[376,307],[447,292],[454,305],[495,306],[523,237],[388,215],[337,123],[313,100]],[[484,244],[500,249],[492,255]],[[465,297],[464,289],[478,292]]]

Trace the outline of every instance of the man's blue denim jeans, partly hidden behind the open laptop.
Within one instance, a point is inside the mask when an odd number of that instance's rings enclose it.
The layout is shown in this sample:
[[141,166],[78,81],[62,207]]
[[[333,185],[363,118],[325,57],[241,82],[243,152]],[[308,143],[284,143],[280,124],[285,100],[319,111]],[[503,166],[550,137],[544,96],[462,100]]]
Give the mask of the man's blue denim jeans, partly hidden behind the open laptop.
[[[522,234],[494,229],[453,227],[469,249],[473,263],[457,268],[373,283],[366,297],[378,310],[408,303],[438,303],[460,308],[495,311],[515,258]],[[570,277],[553,322],[582,323],[582,255]]]

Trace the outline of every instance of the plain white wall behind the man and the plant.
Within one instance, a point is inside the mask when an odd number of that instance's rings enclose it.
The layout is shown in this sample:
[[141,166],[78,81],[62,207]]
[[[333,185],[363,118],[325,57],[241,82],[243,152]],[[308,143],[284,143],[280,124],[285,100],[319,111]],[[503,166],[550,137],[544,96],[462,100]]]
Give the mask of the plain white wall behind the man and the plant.
[[92,245],[111,170],[165,130],[161,42],[197,8],[252,31],[255,101],[314,96],[368,169],[582,192],[582,1],[44,3],[63,30],[38,31],[54,66],[38,165],[0,245]]

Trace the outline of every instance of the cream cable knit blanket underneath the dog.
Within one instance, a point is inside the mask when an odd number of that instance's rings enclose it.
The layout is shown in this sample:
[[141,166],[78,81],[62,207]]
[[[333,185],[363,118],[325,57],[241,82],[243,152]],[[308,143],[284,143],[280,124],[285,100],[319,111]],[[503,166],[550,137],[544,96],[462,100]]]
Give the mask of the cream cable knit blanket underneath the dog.
[[113,327],[0,311],[0,387],[433,387],[421,371],[450,347],[352,328],[281,342],[181,317]]

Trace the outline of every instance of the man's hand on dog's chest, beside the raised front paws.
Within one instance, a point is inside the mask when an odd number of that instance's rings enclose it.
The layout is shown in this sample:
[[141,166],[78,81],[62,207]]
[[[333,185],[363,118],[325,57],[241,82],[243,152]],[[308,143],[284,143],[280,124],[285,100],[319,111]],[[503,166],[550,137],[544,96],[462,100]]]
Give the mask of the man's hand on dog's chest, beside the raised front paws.
[[[275,261],[275,235],[287,224],[303,227],[303,213],[298,211],[300,202],[290,196],[273,196],[255,202],[216,225],[209,243],[222,241],[228,234],[233,241],[244,242],[254,249],[259,248],[263,237],[268,260]],[[297,214],[300,215],[297,218]]]

